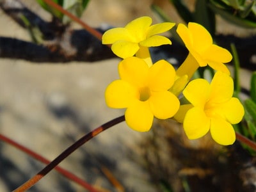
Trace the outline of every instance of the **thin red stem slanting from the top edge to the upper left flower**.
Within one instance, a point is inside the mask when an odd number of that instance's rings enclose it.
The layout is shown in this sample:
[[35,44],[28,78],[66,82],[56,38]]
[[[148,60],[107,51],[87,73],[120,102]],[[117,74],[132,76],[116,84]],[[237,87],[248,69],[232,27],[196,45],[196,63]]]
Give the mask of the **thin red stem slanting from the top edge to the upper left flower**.
[[70,12],[67,12],[67,10],[64,10],[59,4],[54,3],[52,0],[44,0],[45,3],[49,4],[50,6],[52,6],[53,8],[56,8],[56,10],[60,11],[61,13],[63,13],[64,15],[67,15],[68,17],[70,17],[70,19],[76,21],[78,24],[80,24],[84,29],[86,29],[86,31],[88,31],[89,33],[91,33],[93,36],[95,36],[97,39],[99,39],[100,41],[102,40],[102,34],[99,33],[99,31],[91,28],[90,26],[88,26],[87,24],[85,24],[81,19],[79,19],[78,17],[76,17],[75,15],[73,15]]

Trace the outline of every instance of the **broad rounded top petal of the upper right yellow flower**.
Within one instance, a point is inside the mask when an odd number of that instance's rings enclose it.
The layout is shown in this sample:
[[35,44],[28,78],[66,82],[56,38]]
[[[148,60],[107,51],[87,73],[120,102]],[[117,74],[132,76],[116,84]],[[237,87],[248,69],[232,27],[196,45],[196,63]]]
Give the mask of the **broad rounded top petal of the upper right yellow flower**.
[[201,54],[212,45],[212,36],[202,25],[189,22],[188,29],[192,35],[193,48],[196,52]]

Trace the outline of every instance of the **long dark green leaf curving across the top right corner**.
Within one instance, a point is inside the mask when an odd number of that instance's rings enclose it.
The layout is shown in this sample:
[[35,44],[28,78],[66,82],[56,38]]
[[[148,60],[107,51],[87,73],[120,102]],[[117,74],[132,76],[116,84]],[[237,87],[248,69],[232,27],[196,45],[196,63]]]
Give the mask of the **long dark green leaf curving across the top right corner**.
[[216,14],[221,15],[223,19],[226,19],[229,22],[236,24],[237,26],[243,26],[244,28],[256,28],[256,22],[237,17],[236,15],[227,12],[227,10],[223,10],[221,8],[214,6],[214,4],[209,4],[209,8],[211,8],[211,10]]

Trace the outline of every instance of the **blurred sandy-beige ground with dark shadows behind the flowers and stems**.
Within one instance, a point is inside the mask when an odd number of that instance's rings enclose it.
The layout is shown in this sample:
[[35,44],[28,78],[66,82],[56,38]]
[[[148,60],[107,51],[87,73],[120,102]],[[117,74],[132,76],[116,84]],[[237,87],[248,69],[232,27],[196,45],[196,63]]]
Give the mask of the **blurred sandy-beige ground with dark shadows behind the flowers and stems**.
[[[21,2],[45,21],[52,20],[52,15],[36,1],[2,0],[1,37],[32,42],[31,31],[3,11],[6,2]],[[196,1],[182,2],[188,10],[195,11]],[[156,12],[156,7],[152,11],[152,4],[161,8],[172,22],[186,22],[168,0],[91,0],[81,20],[101,29],[122,27],[143,15],[152,17],[154,23],[162,22],[163,15]],[[239,38],[255,35],[253,27],[230,24],[220,15],[214,18],[217,20],[216,35]],[[70,22],[68,29],[82,30],[76,22]],[[59,40],[65,42],[65,37]],[[217,40],[224,43],[225,38]],[[86,39],[83,41],[86,44]],[[44,40],[43,44],[54,49],[52,42]],[[104,100],[106,86],[118,79],[119,58],[111,55],[101,58],[101,53],[97,61],[79,61],[79,58],[72,61],[68,58],[72,50],[69,47],[65,63],[51,62],[51,58],[37,62],[29,61],[29,56],[23,60],[15,55],[23,49],[20,44],[8,45],[13,56],[3,56],[4,50],[8,51],[3,49],[8,47],[6,45],[0,41],[0,132],[4,136],[51,160],[84,134],[124,114],[122,109],[108,108]],[[167,50],[175,51],[172,47]],[[186,51],[179,54],[186,58]],[[245,89],[250,89],[252,68],[255,65],[241,70],[241,85]],[[0,142],[0,151],[0,191],[12,191],[44,168],[44,164],[6,143]],[[240,145],[233,148],[216,145],[208,135],[189,141],[179,124],[172,120],[155,120],[150,132],[132,131],[125,123],[115,125],[77,149],[60,165],[102,191],[247,191],[249,188],[244,187],[240,171],[243,161],[248,159],[235,158],[243,152]],[[243,157],[251,158],[248,154]],[[237,162],[241,166],[237,166]],[[52,171],[29,191],[86,190]]]

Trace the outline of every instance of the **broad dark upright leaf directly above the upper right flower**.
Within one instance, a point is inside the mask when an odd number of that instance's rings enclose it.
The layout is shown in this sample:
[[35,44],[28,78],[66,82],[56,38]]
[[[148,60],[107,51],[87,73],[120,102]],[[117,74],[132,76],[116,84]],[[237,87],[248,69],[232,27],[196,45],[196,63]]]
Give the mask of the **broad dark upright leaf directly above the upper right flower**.
[[195,5],[195,22],[202,24],[212,36],[215,35],[215,15],[209,10],[208,0],[197,0]]

